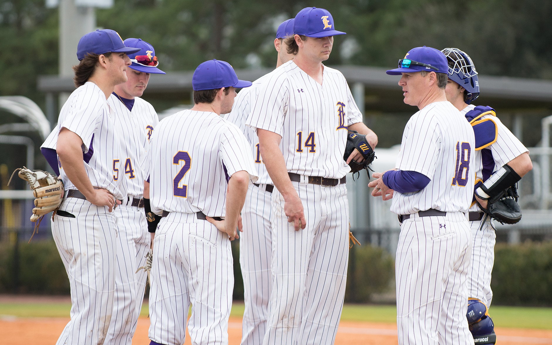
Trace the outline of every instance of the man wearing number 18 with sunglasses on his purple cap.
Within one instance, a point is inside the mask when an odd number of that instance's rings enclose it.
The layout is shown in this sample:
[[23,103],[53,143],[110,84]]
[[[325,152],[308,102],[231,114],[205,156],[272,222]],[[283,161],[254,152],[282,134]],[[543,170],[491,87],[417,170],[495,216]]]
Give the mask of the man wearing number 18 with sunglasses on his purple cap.
[[401,224],[395,262],[399,344],[473,344],[465,318],[471,237],[464,213],[475,181],[474,132],[447,101],[442,52],[413,48],[387,73],[402,74],[405,103],[420,109],[402,134],[396,170],[373,174],[369,184],[373,196],[392,197],[391,212]]

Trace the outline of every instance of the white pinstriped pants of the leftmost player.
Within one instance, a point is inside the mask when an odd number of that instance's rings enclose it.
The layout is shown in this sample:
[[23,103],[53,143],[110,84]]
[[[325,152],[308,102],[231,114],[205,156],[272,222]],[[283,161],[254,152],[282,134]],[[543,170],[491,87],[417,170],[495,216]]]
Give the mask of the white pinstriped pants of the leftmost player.
[[71,321],[57,345],[103,344],[113,312],[117,219],[108,207],[66,198],[52,236],[71,284]]

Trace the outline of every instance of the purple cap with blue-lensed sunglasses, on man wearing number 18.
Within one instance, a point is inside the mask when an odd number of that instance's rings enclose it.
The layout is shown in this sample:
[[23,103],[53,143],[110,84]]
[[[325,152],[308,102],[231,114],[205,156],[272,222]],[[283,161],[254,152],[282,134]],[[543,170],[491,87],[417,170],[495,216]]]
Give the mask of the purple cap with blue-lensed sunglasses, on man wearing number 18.
[[426,46],[412,48],[404,58],[399,60],[399,68],[389,69],[385,73],[398,76],[401,73],[420,71],[448,74],[447,57],[436,48]]

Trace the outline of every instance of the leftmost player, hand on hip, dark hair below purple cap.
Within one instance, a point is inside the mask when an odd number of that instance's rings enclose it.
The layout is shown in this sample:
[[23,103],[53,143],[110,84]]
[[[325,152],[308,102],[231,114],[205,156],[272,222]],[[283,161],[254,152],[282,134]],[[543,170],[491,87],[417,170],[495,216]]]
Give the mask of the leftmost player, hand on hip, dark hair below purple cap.
[[103,344],[108,333],[118,231],[112,211],[127,191],[117,175],[124,171],[123,143],[107,99],[115,85],[127,81],[131,63],[127,54],[139,50],[126,47],[113,30],[84,35],[77,48],[80,62],[73,67],[78,88],[63,105],[58,125],[44,143],[57,148],[66,191],[52,220],[52,235],[71,284],[71,321],[57,341],[60,345]]

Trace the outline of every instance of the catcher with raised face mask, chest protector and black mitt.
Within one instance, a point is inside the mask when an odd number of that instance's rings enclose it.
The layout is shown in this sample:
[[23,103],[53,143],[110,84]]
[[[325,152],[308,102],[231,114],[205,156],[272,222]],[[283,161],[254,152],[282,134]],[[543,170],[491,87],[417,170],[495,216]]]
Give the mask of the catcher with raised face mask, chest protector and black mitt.
[[[468,273],[468,324],[475,344],[493,344],[496,335],[487,307],[491,305],[491,271],[496,234],[492,219],[514,224],[521,219],[516,183],[533,165],[527,148],[496,117],[489,106],[470,103],[479,96],[477,72],[471,58],[457,48],[445,48],[449,73],[445,93],[470,122],[475,134],[473,203],[469,220],[473,242]],[[473,170],[472,170],[473,169]]]

